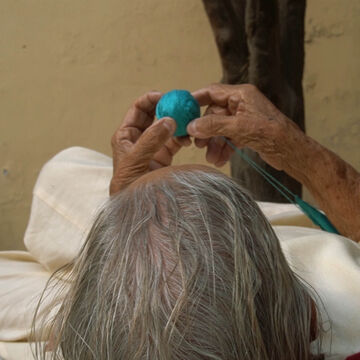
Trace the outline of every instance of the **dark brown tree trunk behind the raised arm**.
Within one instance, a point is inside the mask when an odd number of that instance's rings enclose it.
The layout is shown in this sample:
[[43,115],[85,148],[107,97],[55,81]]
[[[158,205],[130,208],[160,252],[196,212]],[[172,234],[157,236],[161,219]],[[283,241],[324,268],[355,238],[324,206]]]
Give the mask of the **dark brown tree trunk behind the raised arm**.
[[[302,76],[306,0],[203,0],[227,84],[256,85],[284,114],[304,129]],[[295,194],[301,184],[243,150]],[[231,159],[234,179],[256,200],[286,202],[239,156]]]

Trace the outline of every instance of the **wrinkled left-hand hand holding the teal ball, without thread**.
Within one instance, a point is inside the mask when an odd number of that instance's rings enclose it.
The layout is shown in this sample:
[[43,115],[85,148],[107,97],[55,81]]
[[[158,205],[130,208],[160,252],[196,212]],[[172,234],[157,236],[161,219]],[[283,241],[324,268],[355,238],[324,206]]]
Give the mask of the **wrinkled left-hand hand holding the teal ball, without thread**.
[[135,101],[111,139],[113,177],[110,195],[149,171],[171,165],[173,156],[189,138],[175,138],[175,120],[154,120],[161,93],[149,92]]

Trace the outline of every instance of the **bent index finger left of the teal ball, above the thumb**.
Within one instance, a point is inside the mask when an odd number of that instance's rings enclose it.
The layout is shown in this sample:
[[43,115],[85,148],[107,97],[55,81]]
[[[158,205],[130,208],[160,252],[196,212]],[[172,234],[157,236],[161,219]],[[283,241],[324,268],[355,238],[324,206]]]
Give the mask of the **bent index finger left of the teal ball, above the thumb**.
[[139,97],[125,115],[122,127],[136,127],[144,131],[154,120],[155,108],[160,98],[160,92],[148,92]]

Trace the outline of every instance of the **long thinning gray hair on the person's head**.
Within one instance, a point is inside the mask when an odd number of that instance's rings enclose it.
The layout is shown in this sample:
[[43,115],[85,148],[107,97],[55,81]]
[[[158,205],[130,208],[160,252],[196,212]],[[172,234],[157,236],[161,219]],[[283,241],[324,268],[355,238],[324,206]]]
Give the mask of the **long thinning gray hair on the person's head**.
[[54,277],[65,274],[50,359],[311,359],[309,290],[257,204],[218,172],[113,196]]

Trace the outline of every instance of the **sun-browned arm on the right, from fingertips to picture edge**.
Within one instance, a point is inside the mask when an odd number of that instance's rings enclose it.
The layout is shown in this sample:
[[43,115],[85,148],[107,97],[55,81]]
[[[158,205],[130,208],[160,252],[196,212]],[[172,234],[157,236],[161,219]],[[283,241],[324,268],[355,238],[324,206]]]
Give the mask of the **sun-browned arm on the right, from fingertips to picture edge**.
[[304,134],[254,86],[212,85],[194,96],[209,108],[187,130],[207,139],[210,162],[222,165],[230,158],[219,136],[255,150],[306,186],[342,235],[360,242],[360,174],[351,165]]

